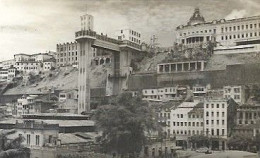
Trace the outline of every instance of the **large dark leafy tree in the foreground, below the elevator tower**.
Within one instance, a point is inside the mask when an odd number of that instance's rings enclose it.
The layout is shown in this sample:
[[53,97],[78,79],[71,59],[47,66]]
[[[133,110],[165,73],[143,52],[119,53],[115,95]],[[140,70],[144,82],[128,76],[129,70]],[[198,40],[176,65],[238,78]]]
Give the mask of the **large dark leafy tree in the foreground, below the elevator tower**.
[[148,103],[131,93],[123,93],[110,105],[99,107],[94,116],[103,132],[104,149],[116,151],[121,157],[140,153],[146,143],[145,132],[158,127],[154,118]]

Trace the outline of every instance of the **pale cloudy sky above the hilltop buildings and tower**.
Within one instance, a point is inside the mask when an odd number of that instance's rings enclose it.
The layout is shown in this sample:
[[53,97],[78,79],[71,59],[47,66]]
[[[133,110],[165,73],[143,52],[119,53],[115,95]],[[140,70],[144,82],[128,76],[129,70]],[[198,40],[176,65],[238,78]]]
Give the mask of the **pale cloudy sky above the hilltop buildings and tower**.
[[131,28],[147,43],[156,35],[160,46],[172,46],[175,28],[195,7],[206,21],[260,15],[260,0],[0,0],[0,61],[73,42],[86,13],[94,16],[97,33],[113,37]]

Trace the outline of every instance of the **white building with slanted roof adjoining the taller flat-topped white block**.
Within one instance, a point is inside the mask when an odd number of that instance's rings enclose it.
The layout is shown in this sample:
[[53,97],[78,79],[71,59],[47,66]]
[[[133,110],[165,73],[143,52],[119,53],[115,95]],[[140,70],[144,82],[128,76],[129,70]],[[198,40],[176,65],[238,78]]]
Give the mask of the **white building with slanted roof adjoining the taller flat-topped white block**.
[[172,109],[170,131],[176,136],[176,145],[187,148],[189,137],[203,134],[203,104],[183,102]]

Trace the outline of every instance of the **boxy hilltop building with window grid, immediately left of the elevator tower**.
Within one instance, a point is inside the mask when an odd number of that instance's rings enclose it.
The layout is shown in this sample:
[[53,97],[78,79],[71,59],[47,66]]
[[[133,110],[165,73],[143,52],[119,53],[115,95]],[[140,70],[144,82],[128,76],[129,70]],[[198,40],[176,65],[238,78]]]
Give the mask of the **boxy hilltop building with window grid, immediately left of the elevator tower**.
[[57,44],[57,66],[78,65],[78,44],[67,42]]

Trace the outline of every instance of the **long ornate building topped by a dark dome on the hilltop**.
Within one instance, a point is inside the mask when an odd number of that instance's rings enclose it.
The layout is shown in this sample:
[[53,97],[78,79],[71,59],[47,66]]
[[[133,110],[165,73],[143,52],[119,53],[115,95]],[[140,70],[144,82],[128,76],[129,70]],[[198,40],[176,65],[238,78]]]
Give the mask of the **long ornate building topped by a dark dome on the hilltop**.
[[206,22],[198,8],[187,25],[176,28],[176,42],[187,47],[216,42],[215,54],[260,50],[260,16]]

